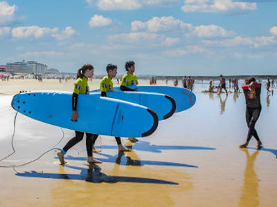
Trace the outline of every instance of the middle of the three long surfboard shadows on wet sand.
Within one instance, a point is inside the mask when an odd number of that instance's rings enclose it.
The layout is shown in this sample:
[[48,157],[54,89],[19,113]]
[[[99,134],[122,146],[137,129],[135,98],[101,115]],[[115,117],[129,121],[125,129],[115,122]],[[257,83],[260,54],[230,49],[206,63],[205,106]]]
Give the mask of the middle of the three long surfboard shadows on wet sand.
[[[98,152],[97,154],[107,157],[107,158],[97,158],[100,161],[108,162],[108,163],[116,163],[121,166],[150,165],[150,166],[175,166],[175,167],[198,168],[198,166],[193,166],[193,165],[188,165],[188,164],[179,164],[179,163],[175,163],[175,162],[131,159],[131,157],[126,156],[124,154],[124,152],[120,152],[118,155],[114,155],[114,156],[111,156],[111,155],[108,155],[108,154],[105,154],[102,152]],[[58,159],[58,157],[55,157],[55,159]],[[65,159],[86,161],[87,157],[73,157],[71,155],[68,155],[65,157]]]

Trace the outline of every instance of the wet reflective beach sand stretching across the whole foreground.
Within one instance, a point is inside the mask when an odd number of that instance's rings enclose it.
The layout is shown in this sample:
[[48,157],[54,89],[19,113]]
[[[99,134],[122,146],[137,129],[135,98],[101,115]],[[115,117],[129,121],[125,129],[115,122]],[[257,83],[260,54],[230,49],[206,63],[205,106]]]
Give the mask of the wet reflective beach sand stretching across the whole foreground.
[[[89,82],[90,89],[98,88],[99,81]],[[12,152],[12,95],[19,90],[71,91],[72,86],[73,81],[0,81],[0,159]],[[0,206],[276,206],[277,95],[267,97],[262,88],[256,130],[264,148],[256,150],[252,138],[247,149],[240,149],[247,135],[244,95],[201,92],[207,88],[208,83],[195,83],[195,106],[160,121],[150,137],[135,144],[122,138],[131,152],[118,155],[114,137],[100,136],[96,147],[102,152],[95,157],[102,164],[87,166],[82,140],[66,154],[66,166],[60,166],[52,150],[26,166],[0,168]],[[21,114],[15,126],[16,152],[0,166],[37,159],[74,135]]]

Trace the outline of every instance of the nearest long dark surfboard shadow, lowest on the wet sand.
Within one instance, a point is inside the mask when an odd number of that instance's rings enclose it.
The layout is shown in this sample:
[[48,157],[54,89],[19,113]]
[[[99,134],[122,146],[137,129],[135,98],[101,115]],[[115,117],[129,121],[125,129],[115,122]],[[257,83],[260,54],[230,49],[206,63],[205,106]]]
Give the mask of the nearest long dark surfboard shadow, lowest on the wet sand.
[[75,170],[81,170],[78,174],[66,174],[66,173],[39,173],[34,170],[31,172],[17,172],[15,175],[20,177],[37,177],[48,179],[72,179],[72,180],[84,180],[91,183],[109,183],[114,184],[117,182],[132,182],[141,184],[170,184],[179,185],[172,181],[166,181],[162,179],[152,179],[144,177],[127,177],[127,176],[109,176],[101,172],[101,168],[96,164],[90,164],[89,168],[80,168],[75,166],[66,165],[67,168],[73,168]]

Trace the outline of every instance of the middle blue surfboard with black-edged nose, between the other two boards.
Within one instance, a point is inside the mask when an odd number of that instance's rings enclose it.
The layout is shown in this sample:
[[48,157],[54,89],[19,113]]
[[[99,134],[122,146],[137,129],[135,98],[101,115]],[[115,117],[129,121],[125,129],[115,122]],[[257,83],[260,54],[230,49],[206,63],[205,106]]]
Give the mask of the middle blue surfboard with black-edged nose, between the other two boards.
[[[100,97],[101,93],[91,92],[89,95]],[[156,112],[159,120],[168,119],[174,114],[176,109],[175,100],[168,95],[160,93],[118,91],[107,92],[107,97],[137,103],[147,108],[151,108]]]

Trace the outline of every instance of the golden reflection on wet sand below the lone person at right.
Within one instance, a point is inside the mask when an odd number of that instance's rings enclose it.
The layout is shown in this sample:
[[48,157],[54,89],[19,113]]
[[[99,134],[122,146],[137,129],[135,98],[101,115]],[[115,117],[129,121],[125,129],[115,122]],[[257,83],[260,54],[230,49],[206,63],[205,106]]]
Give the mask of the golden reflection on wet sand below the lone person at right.
[[258,197],[258,177],[254,170],[254,162],[260,150],[256,150],[252,155],[249,155],[247,148],[240,149],[247,155],[247,166],[244,170],[244,183],[242,186],[242,196],[240,197],[239,206],[259,206]]

